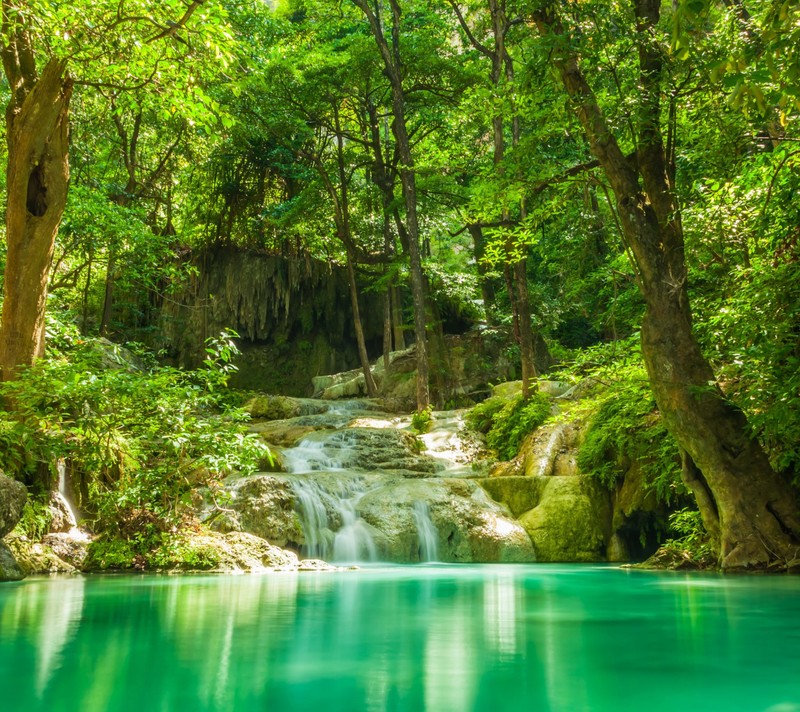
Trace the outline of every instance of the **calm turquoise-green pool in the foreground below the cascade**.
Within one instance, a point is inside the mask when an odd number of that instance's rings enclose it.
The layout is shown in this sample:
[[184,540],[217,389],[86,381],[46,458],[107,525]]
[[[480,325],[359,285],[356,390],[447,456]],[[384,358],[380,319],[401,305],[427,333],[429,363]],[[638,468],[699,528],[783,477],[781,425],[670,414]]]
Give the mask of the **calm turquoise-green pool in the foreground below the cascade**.
[[800,577],[31,579],[0,586],[0,710],[800,712]]

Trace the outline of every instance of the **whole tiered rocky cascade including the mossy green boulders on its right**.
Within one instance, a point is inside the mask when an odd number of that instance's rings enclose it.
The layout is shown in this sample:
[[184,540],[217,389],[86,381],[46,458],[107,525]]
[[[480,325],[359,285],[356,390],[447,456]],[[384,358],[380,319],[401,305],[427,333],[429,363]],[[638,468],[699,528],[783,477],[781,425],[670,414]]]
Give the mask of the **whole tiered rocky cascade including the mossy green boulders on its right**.
[[[505,383],[494,395],[518,390]],[[541,381],[540,390],[557,416],[516,458],[491,468],[463,428],[465,411],[434,413],[430,431],[415,437],[408,416],[368,400],[286,399],[276,408],[262,399],[264,412],[288,416],[253,425],[275,450],[277,471],[230,482],[229,504],[208,515],[222,531],[339,562],[629,561],[652,553],[666,513],[641,468],[629,463],[614,491],[579,472],[585,389]]]

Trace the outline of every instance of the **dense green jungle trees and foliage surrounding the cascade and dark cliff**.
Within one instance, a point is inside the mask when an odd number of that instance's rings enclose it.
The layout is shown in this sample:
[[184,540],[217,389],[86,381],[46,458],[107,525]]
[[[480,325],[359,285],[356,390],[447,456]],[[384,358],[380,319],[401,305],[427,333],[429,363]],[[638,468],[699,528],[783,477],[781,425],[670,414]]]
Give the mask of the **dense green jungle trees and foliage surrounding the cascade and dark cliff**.
[[[374,392],[380,354],[356,280],[371,275],[384,351],[416,343],[420,413],[435,284],[512,331],[524,401],[537,339],[573,373],[618,372],[614,388],[637,394],[626,412],[659,414],[719,565],[797,558],[796,3],[3,0],[2,12],[7,471],[46,487],[53,457],[83,457],[124,526],[173,516],[192,478],[263,456],[220,449],[203,420],[233,407],[224,337],[194,374],[152,362],[146,377],[99,376],[86,349],[148,340],[187,255],[238,246],[346,267]],[[156,426],[137,401],[179,422]],[[125,428],[100,422],[112,411]],[[186,469],[165,479],[176,452]]]

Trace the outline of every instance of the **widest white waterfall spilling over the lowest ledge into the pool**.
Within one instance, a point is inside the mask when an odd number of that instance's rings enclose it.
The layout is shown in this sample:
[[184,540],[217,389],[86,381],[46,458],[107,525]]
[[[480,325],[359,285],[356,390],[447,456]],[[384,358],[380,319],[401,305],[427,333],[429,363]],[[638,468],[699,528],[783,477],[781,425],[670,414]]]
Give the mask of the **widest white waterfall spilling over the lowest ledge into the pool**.
[[291,478],[306,556],[339,563],[376,561],[378,551],[356,505],[367,491],[358,477]]

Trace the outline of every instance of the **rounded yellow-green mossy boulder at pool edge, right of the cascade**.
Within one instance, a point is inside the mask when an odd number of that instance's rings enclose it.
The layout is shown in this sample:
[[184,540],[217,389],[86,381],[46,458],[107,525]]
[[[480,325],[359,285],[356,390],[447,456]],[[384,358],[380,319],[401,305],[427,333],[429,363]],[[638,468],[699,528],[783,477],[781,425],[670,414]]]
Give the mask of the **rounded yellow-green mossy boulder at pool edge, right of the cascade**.
[[610,495],[588,477],[543,477],[539,504],[523,514],[537,561],[604,561]]

